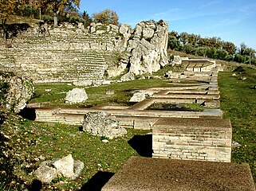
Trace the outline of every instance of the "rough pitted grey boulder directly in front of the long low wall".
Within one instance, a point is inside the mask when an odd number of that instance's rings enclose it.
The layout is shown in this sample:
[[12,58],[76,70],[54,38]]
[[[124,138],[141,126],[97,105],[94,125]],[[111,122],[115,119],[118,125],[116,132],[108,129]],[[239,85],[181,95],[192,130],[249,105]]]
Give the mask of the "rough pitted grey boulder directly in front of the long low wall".
[[111,139],[127,134],[127,131],[120,127],[116,117],[106,111],[87,113],[82,127],[83,131]]

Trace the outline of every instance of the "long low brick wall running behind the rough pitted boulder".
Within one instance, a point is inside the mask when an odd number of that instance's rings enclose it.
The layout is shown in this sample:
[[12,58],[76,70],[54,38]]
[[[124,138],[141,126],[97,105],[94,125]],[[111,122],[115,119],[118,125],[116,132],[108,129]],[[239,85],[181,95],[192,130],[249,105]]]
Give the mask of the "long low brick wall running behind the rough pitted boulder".
[[222,112],[210,111],[132,111],[108,110],[102,108],[34,108],[36,121],[49,123],[64,123],[69,125],[82,125],[84,116],[90,111],[108,111],[116,116],[121,127],[150,130],[160,118],[199,118],[202,116],[215,116],[220,118]]

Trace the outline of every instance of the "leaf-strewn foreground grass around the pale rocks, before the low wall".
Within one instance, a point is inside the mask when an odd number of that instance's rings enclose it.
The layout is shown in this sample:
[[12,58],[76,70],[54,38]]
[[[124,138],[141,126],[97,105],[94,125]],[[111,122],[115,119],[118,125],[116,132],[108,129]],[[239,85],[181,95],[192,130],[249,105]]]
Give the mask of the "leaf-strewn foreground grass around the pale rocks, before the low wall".
[[[81,175],[73,181],[57,178],[61,181],[53,180],[50,184],[44,184],[41,190],[79,190],[97,172],[115,173],[128,158],[139,155],[128,142],[135,134],[146,133],[148,131],[128,129],[125,137],[109,139],[109,142],[105,143],[102,138],[81,132],[76,126],[22,119],[13,134],[8,134],[13,141],[14,156],[20,158],[15,163],[13,172],[16,177],[21,177],[26,185],[30,185],[35,178],[31,172],[36,170],[42,161],[72,154],[75,160],[85,164]],[[14,180],[14,184],[18,184],[18,181]],[[7,188],[7,185],[0,184],[0,188]],[[22,189],[16,187],[14,190]]]

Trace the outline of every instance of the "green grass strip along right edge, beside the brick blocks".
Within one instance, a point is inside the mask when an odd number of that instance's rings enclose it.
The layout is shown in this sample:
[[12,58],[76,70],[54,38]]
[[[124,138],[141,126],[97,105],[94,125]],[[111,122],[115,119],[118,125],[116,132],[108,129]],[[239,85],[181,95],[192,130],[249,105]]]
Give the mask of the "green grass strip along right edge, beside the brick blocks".
[[[221,109],[233,127],[233,141],[242,146],[232,150],[232,162],[249,163],[256,181],[256,69],[219,73]],[[246,80],[241,80],[246,77]]]

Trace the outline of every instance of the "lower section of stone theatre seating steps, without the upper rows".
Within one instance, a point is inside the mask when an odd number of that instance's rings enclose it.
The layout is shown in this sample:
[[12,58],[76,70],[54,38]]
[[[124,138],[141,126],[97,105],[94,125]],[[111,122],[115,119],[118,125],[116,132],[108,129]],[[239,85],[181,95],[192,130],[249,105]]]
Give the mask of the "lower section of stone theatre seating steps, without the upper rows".
[[[20,68],[23,74],[33,77],[37,83],[102,79],[108,68],[104,60],[107,54],[106,51],[93,50],[0,50],[0,68],[6,69],[6,65],[10,69]],[[26,67],[23,67],[24,64]]]

